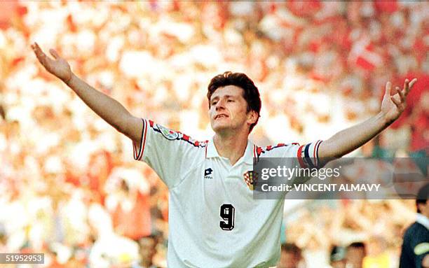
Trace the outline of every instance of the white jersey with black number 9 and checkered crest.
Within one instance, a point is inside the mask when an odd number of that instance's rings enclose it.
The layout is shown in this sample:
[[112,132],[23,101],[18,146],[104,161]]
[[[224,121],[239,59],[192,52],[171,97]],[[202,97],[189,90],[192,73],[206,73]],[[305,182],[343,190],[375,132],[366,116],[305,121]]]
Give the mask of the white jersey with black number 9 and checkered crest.
[[194,141],[143,120],[134,157],[147,162],[169,189],[168,266],[275,266],[285,199],[253,199],[243,174],[252,171],[254,157],[296,157],[297,164],[315,164],[320,142],[261,148],[248,141],[243,157],[231,165],[212,141]]

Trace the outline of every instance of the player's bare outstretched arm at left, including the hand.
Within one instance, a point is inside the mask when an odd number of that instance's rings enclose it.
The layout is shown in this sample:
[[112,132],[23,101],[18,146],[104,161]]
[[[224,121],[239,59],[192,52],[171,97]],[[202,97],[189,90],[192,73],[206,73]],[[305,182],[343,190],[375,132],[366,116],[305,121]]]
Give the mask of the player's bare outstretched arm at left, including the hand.
[[53,59],[51,59],[41,50],[37,43],[32,45],[32,49],[46,71],[66,83],[91,110],[100,115],[104,121],[117,129],[118,132],[125,134],[137,144],[139,143],[142,133],[142,120],[132,116],[115,99],[95,90],[85,81],[75,76],[67,61],[60,57],[55,50],[49,50],[50,55],[53,56]]

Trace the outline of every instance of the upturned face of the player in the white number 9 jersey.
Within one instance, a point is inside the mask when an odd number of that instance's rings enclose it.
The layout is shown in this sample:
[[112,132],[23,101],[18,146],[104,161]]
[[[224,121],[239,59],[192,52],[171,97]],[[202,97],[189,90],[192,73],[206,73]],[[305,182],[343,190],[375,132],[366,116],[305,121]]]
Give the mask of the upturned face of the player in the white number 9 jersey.
[[235,85],[219,87],[210,99],[210,124],[214,132],[249,129],[257,119],[256,113],[247,113],[243,89]]

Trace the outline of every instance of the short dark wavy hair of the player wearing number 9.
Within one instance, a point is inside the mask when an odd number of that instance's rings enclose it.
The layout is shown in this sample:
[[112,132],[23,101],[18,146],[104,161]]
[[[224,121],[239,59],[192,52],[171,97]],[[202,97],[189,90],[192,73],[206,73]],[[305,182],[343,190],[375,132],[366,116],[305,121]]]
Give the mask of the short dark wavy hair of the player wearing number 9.
[[209,101],[210,108],[210,98],[212,94],[219,88],[225,87],[226,85],[235,85],[237,87],[243,88],[243,98],[247,102],[247,113],[250,111],[255,111],[258,114],[256,122],[250,125],[249,132],[252,132],[252,129],[257,125],[259,120],[259,113],[261,112],[261,96],[259,95],[259,90],[254,85],[252,79],[245,75],[245,73],[233,73],[231,71],[226,71],[222,74],[214,76],[210,80],[210,84],[207,87],[207,99]]

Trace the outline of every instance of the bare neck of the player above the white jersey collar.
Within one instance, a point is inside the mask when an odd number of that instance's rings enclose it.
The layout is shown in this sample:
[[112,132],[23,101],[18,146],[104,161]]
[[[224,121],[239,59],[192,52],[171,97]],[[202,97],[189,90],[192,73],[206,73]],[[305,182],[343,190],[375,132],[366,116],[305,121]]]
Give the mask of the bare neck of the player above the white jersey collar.
[[244,155],[247,146],[248,134],[215,134],[213,138],[214,147],[220,156],[229,159],[231,165]]

